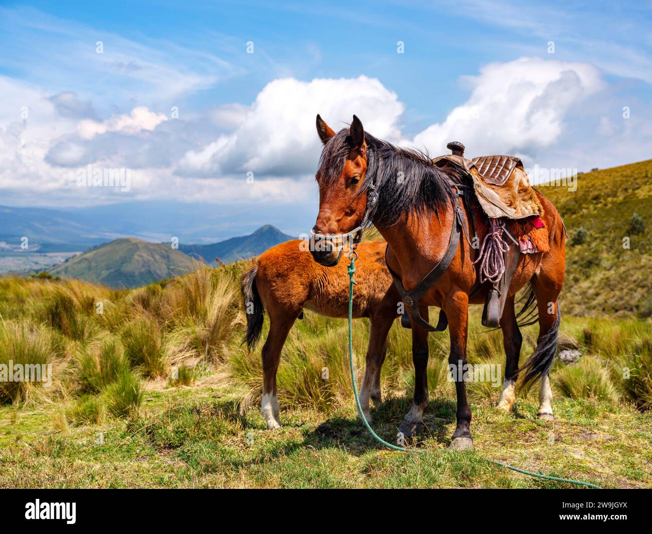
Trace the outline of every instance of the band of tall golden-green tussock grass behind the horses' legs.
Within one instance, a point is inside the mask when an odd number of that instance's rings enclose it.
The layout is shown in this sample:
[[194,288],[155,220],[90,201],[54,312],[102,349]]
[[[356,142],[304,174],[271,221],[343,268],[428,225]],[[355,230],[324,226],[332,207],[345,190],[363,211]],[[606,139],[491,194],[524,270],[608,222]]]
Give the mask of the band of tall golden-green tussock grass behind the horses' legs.
[[[12,352],[34,352],[38,359],[51,361],[60,372],[55,378],[57,388],[47,392],[48,398],[52,398],[54,391],[67,400],[70,396],[93,394],[106,404],[108,414],[129,411],[108,409],[106,392],[117,392],[119,382],[123,393],[128,391],[125,384],[138,381],[138,376],[145,380],[166,379],[169,385],[191,385],[198,373],[211,370],[226,377],[246,410],[260,402],[262,343],[251,354],[241,346],[244,314],[237,282],[244,267],[245,263],[217,269],[203,266],[185,276],[130,291],[70,280],[0,279],[0,314],[4,325],[1,335],[5,336],[0,354],[7,359],[7,347],[14,343],[18,345],[10,349]],[[268,326],[269,319],[265,318],[263,337]],[[360,383],[368,320],[355,321],[354,329]],[[536,325],[523,329],[521,362],[531,354],[537,331]],[[650,321],[564,316],[560,348],[579,349],[584,357],[576,367],[556,364],[556,396],[597,396],[608,402],[630,402],[640,410],[651,408],[651,338]],[[389,333],[381,375],[385,397],[412,393],[411,342],[411,331],[402,329],[396,321]],[[449,336],[431,334],[428,343],[431,396],[452,398],[454,388],[447,368]],[[479,327],[473,314],[467,348],[469,364],[499,366],[501,372],[505,364],[502,334]],[[179,379],[170,379],[173,367],[180,370]],[[131,378],[124,378],[128,373],[132,373]],[[352,399],[346,321],[306,312],[288,336],[277,378],[283,409],[310,407],[326,413],[348,405]],[[40,391],[38,386],[2,387],[2,402],[20,404],[29,398],[41,398],[29,394]],[[467,390],[473,402],[491,405],[500,388],[482,381],[469,383]],[[73,417],[72,421],[76,419]]]

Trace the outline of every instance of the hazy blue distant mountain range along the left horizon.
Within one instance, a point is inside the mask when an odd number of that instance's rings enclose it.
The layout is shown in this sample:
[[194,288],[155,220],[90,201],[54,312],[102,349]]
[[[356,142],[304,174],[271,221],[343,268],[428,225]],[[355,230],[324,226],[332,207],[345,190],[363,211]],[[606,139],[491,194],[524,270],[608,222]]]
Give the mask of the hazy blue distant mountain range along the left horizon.
[[[132,201],[87,207],[0,206],[0,247],[20,249],[29,239],[31,252],[78,252],[120,237],[170,243],[218,243],[248,234],[263,222],[280,221],[298,235],[314,224],[315,202],[287,205],[216,205],[175,201]],[[22,250],[22,249],[20,249]],[[22,251],[24,254],[25,251]]]

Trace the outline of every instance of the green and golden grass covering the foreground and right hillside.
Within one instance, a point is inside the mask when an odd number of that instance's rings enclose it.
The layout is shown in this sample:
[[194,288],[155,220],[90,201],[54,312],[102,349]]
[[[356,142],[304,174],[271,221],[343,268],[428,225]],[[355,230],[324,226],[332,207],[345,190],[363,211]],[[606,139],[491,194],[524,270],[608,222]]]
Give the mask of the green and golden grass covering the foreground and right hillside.
[[[588,229],[569,246],[561,301],[560,348],[582,356],[554,364],[554,423],[536,419],[534,389],[518,394],[514,412],[505,414],[495,408],[499,387],[471,382],[476,450],[448,451],[455,421],[449,340],[433,334],[430,406],[424,434],[412,444],[426,452],[385,451],[353,408],[346,321],[306,311],[278,370],[283,426],[268,432],[258,413],[260,346],[252,353],[241,346],[238,278],[245,262],[121,291],[47,277],[1,278],[0,373],[10,360],[52,364],[53,372],[50,387],[0,382],[0,487],[565,487],[486,458],[601,486],[652,487],[652,319],[643,268],[649,250],[637,241],[649,213],[641,203],[638,217],[625,209],[633,210],[632,197],[647,198],[650,167],[610,170],[620,182],[634,173],[636,188],[597,193],[604,213],[624,210],[620,222],[608,216],[585,222],[603,212],[578,199],[593,194],[591,184],[602,175],[580,177],[576,196],[555,200],[562,194],[557,188],[544,190],[571,233],[572,226]],[[629,252],[610,248],[621,226],[634,230]],[[614,276],[628,284],[614,286]],[[479,312],[471,313],[469,363],[492,366],[500,383],[502,336],[479,326]],[[263,336],[268,326],[265,318]],[[522,333],[525,359],[537,327]],[[368,321],[355,321],[359,381],[367,335]],[[385,402],[372,413],[378,434],[393,441],[414,384],[411,334],[398,321],[388,346]]]

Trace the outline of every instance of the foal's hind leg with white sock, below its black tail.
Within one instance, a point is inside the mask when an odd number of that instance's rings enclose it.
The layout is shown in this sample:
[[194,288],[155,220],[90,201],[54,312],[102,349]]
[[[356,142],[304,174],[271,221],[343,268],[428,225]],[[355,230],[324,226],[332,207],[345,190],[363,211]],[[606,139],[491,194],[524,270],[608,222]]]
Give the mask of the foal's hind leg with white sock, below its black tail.
[[261,354],[263,359],[263,402],[260,408],[260,413],[265,417],[265,423],[269,430],[280,426],[276,398],[276,371],[283,345],[296,319],[295,315],[291,315],[270,317],[269,320],[269,334]]

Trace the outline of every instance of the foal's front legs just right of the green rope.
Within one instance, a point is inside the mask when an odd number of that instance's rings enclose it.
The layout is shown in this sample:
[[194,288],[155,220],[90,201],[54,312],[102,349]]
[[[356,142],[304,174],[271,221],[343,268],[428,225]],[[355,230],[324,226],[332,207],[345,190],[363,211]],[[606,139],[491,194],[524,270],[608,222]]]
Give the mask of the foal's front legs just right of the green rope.
[[380,370],[387,351],[387,333],[392,327],[394,316],[377,314],[370,319],[369,346],[366,354],[363,383],[360,388],[360,404],[364,417],[371,422],[369,399],[374,401],[376,408],[380,406]]

